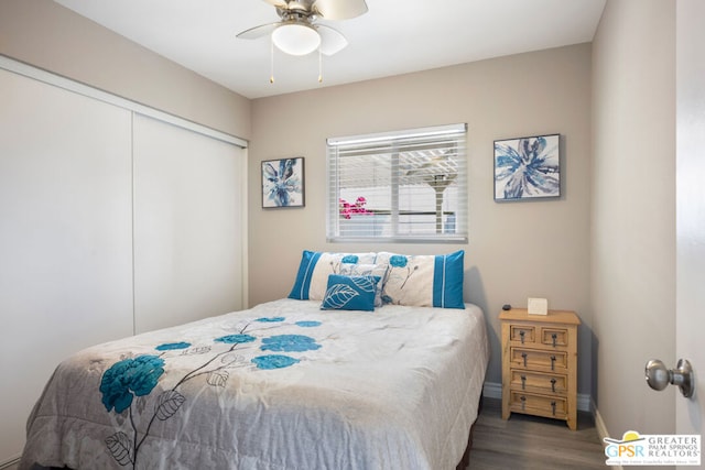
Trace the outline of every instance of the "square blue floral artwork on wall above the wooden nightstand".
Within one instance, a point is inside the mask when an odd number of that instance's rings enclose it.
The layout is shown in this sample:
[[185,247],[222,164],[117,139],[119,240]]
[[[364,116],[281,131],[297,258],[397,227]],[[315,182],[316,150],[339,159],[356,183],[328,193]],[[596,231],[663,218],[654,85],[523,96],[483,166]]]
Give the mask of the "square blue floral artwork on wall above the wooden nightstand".
[[560,134],[495,141],[495,200],[561,196]]

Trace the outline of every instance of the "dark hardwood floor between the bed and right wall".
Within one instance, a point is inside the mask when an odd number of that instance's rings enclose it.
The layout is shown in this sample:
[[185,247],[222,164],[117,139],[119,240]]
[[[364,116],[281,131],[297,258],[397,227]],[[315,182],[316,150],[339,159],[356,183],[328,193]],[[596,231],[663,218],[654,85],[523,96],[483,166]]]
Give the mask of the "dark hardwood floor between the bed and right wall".
[[577,430],[571,430],[562,420],[516,413],[503,420],[501,401],[484,398],[468,469],[605,470],[605,460],[589,413],[578,412]]

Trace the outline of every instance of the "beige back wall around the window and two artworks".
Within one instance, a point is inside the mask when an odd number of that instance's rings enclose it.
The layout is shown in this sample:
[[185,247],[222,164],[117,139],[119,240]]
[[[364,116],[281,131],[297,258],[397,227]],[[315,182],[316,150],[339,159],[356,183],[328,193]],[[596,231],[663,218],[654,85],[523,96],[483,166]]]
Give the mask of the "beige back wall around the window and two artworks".
[[[326,138],[453,122],[468,123],[469,243],[326,243]],[[494,140],[542,133],[562,134],[563,196],[495,203]],[[306,159],[306,207],[261,209],[259,162],[297,155]],[[303,249],[465,249],[466,299],[485,309],[490,326],[488,380],[501,382],[501,305],[525,307],[528,296],[544,296],[551,308],[575,309],[583,318],[578,389],[588,393],[589,160],[589,44],[257,99],[249,170],[250,304],[289,294]]]

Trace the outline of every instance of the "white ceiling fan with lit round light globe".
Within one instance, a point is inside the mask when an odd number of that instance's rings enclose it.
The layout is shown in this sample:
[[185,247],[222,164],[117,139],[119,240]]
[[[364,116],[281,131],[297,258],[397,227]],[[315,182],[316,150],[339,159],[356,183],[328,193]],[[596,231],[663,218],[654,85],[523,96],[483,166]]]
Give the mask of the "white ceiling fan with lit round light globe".
[[245,30],[237,35],[254,40],[271,34],[272,43],[286,54],[306,55],[316,50],[333,55],[347,46],[337,30],[319,24],[324,20],[349,20],[367,12],[365,0],[264,0],[276,8],[281,21]]

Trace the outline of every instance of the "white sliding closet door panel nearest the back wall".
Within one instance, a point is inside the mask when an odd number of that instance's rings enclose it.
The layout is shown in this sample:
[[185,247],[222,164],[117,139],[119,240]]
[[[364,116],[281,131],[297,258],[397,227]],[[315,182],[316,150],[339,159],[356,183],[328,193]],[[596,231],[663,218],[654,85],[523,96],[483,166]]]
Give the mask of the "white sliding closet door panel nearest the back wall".
[[135,332],[242,308],[245,151],[134,118]]

